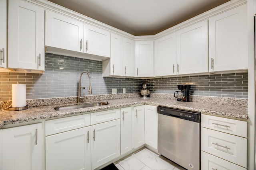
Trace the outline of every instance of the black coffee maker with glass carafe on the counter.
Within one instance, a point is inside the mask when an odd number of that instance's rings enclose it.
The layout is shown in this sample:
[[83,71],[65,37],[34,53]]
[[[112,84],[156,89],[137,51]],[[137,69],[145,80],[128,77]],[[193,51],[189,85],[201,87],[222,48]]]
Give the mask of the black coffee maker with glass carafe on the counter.
[[191,102],[190,100],[190,86],[191,85],[177,85],[180,91],[174,92],[174,97],[181,102]]

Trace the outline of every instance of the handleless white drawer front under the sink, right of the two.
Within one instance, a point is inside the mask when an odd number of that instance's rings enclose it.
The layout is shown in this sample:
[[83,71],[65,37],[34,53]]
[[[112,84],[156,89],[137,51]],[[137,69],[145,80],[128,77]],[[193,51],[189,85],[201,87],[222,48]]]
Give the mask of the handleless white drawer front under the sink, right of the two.
[[100,111],[91,113],[91,125],[111,121],[120,118],[120,109]]

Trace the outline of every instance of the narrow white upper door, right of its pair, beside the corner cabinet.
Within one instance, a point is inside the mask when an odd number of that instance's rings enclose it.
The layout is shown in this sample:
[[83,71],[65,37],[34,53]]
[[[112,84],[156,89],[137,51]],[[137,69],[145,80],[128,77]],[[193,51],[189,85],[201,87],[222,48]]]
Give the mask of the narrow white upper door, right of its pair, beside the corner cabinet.
[[123,75],[134,77],[135,41],[123,37]]

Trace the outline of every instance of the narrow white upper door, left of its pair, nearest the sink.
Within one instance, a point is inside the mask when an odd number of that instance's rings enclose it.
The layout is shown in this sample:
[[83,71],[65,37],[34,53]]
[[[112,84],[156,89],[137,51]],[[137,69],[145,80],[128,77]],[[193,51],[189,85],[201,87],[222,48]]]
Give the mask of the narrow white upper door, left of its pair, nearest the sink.
[[111,33],[110,74],[122,76],[122,37]]

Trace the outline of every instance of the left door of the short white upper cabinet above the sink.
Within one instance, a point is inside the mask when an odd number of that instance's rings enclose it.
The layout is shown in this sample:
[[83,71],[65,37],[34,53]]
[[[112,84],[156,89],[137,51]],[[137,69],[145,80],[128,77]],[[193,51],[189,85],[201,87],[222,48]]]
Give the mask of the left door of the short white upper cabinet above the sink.
[[45,12],[45,45],[84,52],[84,23],[56,12]]

